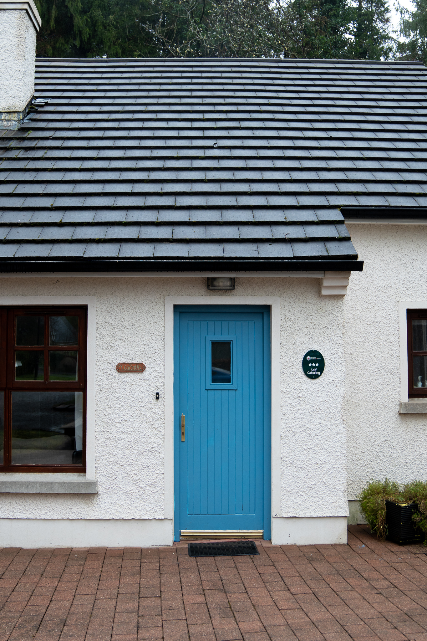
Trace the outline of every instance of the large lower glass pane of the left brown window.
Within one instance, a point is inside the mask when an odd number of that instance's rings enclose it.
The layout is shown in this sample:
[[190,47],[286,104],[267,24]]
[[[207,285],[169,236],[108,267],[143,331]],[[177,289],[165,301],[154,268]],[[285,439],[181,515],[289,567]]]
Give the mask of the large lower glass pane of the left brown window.
[[12,464],[81,463],[82,410],[83,392],[12,392]]

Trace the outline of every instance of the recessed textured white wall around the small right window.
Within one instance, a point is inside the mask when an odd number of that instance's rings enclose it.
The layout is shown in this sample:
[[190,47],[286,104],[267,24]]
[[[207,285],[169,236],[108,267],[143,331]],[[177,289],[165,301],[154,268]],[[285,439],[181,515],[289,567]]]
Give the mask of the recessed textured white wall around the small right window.
[[399,301],[427,302],[427,226],[348,229],[364,260],[344,301],[348,498],[355,499],[371,478],[427,478],[427,415],[398,413]]

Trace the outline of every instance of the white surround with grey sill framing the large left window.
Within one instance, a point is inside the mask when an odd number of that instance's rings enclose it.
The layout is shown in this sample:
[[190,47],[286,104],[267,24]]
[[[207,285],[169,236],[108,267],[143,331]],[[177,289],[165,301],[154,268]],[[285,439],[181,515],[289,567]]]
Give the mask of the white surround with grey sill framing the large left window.
[[0,473],[1,492],[96,494],[95,479],[95,296],[0,296],[3,305],[85,305],[88,308],[86,369],[86,475],[66,472]]

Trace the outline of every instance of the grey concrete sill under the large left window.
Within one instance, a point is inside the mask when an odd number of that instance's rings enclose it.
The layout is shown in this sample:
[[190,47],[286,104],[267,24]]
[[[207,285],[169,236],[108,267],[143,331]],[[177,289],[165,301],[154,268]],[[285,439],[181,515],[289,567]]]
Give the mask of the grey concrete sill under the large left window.
[[0,474],[0,494],[97,494],[98,481],[85,474]]

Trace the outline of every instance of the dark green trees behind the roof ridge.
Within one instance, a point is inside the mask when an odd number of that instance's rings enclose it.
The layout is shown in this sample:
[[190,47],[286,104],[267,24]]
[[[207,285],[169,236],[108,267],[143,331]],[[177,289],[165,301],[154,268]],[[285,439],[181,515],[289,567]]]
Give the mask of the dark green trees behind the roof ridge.
[[[36,0],[36,5],[42,17],[38,56],[380,60],[392,57],[395,48],[387,0]],[[421,25],[415,17],[412,26],[414,21]],[[413,46],[421,48],[421,40]]]

